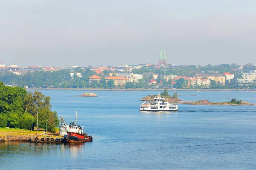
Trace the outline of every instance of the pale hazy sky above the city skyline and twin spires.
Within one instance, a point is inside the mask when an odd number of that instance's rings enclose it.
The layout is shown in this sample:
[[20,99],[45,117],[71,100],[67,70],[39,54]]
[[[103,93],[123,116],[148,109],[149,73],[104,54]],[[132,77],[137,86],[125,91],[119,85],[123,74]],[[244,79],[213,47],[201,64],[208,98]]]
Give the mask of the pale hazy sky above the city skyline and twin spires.
[[7,66],[256,64],[256,0],[0,0]]

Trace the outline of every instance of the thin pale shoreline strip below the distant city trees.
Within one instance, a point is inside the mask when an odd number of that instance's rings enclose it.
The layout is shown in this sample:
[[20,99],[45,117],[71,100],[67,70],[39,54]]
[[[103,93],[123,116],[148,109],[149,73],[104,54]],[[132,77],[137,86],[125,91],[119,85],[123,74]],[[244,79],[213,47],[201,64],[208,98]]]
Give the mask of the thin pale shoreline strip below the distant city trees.
[[[145,89],[145,88],[26,88],[26,90],[74,90],[74,91],[164,91],[165,89]],[[167,91],[250,91],[256,92],[256,89],[167,89]]]

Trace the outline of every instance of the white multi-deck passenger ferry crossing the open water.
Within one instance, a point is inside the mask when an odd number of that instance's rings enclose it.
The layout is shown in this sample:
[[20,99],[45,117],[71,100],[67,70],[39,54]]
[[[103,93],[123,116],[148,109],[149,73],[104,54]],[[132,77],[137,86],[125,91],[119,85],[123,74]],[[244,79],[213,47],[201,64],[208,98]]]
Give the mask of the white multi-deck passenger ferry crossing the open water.
[[172,105],[167,101],[164,101],[164,98],[161,98],[160,93],[157,98],[154,98],[154,102],[145,101],[140,105],[140,111],[178,111],[178,105]]

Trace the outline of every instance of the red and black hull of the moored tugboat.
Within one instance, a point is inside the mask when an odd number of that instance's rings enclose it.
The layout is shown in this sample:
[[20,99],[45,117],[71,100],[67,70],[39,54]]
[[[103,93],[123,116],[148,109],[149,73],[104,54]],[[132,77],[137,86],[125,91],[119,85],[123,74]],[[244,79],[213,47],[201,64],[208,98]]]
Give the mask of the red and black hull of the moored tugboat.
[[87,134],[80,134],[70,132],[64,136],[62,143],[84,143],[93,142],[93,136],[88,136]]

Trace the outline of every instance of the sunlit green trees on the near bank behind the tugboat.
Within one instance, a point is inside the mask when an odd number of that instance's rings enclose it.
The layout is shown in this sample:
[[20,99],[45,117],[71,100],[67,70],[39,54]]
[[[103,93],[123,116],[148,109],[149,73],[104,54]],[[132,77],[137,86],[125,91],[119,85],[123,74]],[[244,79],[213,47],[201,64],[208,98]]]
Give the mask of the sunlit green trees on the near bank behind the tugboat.
[[33,130],[38,128],[53,132],[59,125],[56,111],[51,111],[51,98],[41,92],[27,92],[21,87],[9,87],[0,82],[0,127]]

